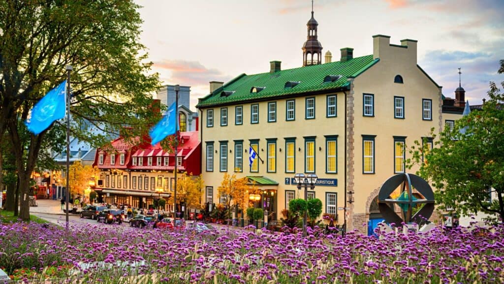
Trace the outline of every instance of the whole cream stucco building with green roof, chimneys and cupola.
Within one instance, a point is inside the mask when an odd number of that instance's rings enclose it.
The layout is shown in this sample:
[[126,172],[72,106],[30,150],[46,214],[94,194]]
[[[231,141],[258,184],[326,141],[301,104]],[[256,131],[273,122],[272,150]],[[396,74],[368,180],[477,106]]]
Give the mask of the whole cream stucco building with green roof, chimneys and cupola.
[[[373,200],[381,185],[405,171],[405,145],[442,128],[441,87],[417,65],[411,39],[392,44],[375,35],[372,54],[354,58],[352,48],[342,48],[340,61],[328,52],[322,64],[317,25],[312,14],[303,67],[281,70],[273,61],[269,73],[210,83],[197,105],[205,201],[219,203],[224,173],[235,173],[256,181],[261,206],[278,219],[290,199],[303,197],[294,175],[315,173],[310,197],[339,224],[345,216],[338,207],[349,207],[348,228],[365,232],[380,217]],[[262,159],[252,166],[249,147]],[[353,203],[345,203],[349,193]]]

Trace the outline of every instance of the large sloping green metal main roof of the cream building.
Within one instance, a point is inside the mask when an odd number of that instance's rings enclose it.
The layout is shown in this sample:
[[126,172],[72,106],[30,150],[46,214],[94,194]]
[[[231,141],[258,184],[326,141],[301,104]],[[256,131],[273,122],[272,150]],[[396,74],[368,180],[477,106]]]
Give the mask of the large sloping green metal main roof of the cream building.
[[[378,61],[380,59],[373,60],[373,55],[366,55],[346,62],[338,61],[310,65],[275,73],[241,74],[213,93],[201,98],[196,107],[204,108],[249,100],[273,99],[331,89],[348,89],[349,82],[347,79],[349,77],[357,77]],[[324,78],[328,75],[340,75],[341,78],[331,83],[324,83]],[[285,83],[288,81],[299,82],[299,84],[292,88],[284,88]],[[262,87],[264,89],[252,93],[250,90],[253,87]],[[224,96],[221,96],[222,91],[226,91]]]

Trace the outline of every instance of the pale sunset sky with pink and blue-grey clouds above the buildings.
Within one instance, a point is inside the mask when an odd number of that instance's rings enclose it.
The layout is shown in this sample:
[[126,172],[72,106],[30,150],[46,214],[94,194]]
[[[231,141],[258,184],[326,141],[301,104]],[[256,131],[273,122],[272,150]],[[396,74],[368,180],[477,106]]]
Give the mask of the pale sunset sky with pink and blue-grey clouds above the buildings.
[[[301,47],[310,18],[309,0],[136,0],[146,45],[163,84],[191,86],[191,108],[209,92],[209,81],[226,82],[241,73],[301,67]],[[455,97],[462,87],[470,104],[486,97],[489,81],[504,59],[502,0],[315,0],[323,54],[339,60],[342,47],[354,57],[372,54],[374,34],[418,40],[418,65]]]

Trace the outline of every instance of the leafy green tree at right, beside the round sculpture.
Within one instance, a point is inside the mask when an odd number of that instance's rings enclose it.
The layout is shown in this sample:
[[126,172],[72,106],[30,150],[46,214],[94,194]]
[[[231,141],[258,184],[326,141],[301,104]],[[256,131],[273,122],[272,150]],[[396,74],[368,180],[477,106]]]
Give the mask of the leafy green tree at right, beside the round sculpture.
[[[501,60],[498,73],[503,72]],[[464,215],[483,211],[498,215],[504,224],[504,94],[490,82],[488,96],[481,110],[459,119],[453,131],[438,135],[439,147],[426,151],[426,143],[422,147],[415,141],[417,148],[410,152],[412,163],[423,157],[418,174],[437,188],[436,203],[443,209],[452,207]],[[496,193],[496,200],[489,201],[490,192]]]

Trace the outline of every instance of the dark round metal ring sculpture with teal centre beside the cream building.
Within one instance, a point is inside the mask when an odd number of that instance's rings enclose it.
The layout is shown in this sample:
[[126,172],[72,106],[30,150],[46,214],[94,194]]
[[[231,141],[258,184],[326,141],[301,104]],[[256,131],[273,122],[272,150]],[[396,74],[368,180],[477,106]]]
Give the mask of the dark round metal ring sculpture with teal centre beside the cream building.
[[[401,192],[397,198],[391,198],[390,195],[400,186]],[[415,188],[423,198],[413,196],[412,189]],[[399,216],[389,206],[389,204],[398,204],[402,211]],[[425,204],[415,215],[412,216],[413,208]],[[428,219],[434,211],[434,193],[429,184],[422,178],[413,174],[398,174],[390,177],[383,184],[378,193],[378,207],[380,213],[387,223],[400,225],[402,222],[417,224],[422,223],[422,218]],[[421,216],[421,217],[420,217]]]

